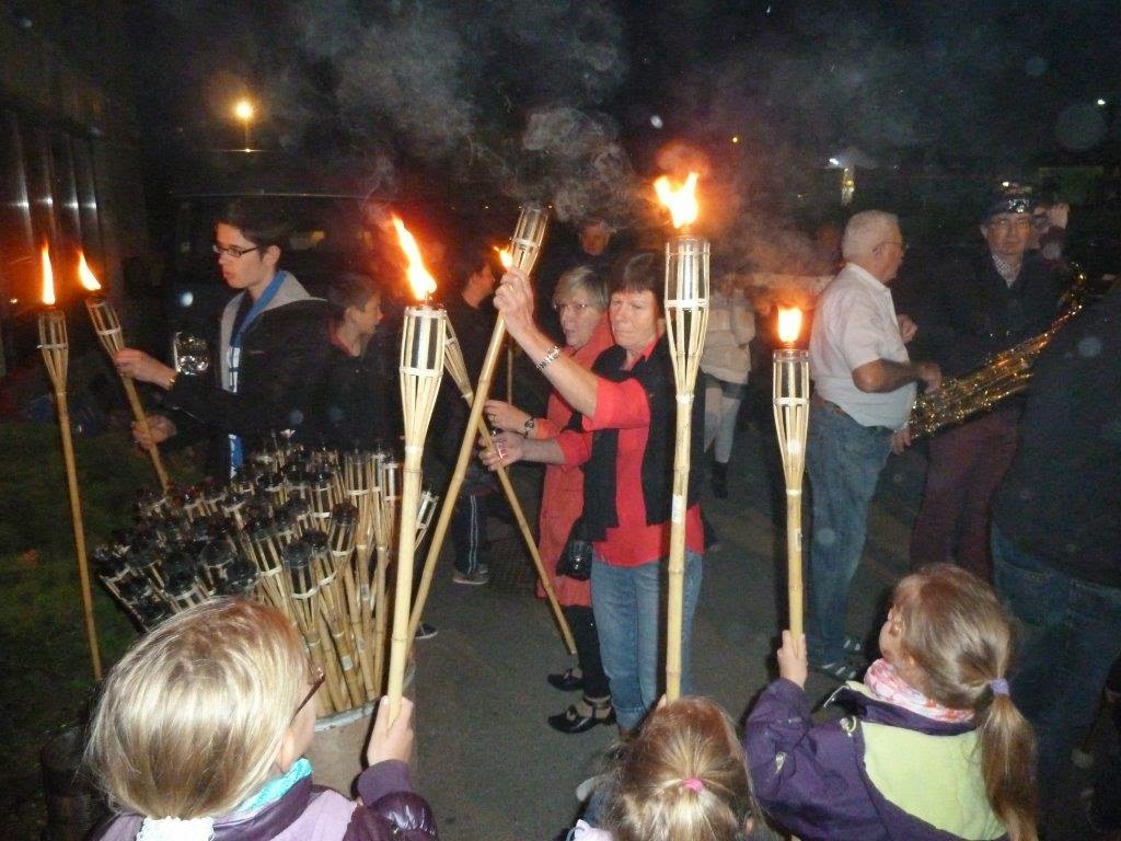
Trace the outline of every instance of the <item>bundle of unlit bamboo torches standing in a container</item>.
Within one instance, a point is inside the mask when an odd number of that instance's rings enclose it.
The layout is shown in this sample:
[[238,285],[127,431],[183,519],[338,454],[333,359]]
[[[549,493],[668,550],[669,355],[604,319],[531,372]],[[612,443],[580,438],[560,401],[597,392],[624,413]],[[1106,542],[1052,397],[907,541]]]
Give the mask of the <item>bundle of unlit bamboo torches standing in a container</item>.
[[[94,569],[146,629],[219,594],[280,609],[326,675],[321,714],[361,706],[385,682],[400,471],[385,452],[285,442],[228,484],[145,495],[137,525],[94,551]],[[417,542],[436,501],[420,495]]]

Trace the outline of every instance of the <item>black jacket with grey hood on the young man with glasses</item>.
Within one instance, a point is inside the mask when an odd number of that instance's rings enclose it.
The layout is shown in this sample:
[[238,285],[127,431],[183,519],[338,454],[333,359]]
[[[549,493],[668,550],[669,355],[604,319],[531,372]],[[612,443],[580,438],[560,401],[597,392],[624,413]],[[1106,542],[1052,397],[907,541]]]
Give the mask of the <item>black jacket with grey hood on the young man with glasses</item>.
[[180,376],[165,398],[210,438],[207,473],[216,478],[230,474],[229,435],[242,436],[248,454],[270,433],[314,428],[324,405],[330,305],[309,296],[290,275],[242,338],[237,394],[222,387],[231,330],[248,311],[248,298],[242,293],[226,305],[213,379]]

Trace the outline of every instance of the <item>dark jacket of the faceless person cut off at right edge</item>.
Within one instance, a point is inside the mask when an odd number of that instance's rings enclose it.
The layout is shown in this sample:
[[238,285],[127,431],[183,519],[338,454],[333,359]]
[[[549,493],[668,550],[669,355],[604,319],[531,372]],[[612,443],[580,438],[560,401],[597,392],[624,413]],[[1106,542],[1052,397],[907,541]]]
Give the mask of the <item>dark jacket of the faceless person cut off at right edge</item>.
[[1022,552],[1121,588],[1121,286],[1074,316],[1032,370],[993,520]]

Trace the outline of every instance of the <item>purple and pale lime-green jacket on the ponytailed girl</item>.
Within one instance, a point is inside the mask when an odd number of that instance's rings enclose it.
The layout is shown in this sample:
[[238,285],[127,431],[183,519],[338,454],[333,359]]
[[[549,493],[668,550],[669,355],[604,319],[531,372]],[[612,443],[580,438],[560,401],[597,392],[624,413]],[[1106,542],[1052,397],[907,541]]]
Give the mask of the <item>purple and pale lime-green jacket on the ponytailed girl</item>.
[[[839,688],[830,702],[846,708],[852,715],[822,724],[810,719],[809,701],[797,684],[778,680],[763,690],[743,733],[748,768],[763,810],[803,841],[970,839],[938,829],[908,811],[908,804],[886,796],[870,773],[873,754],[876,760],[888,760],[891,773],[912,774],[917,769],[919,802],[937,804],[939,814],[948,815],[951,823],[985,828],[972,841],[1007,839],[983,798],[979,757],[957,749],[966,746],[962,739],[943,740],[970,733],[973,722],[935,721],[872,697],[862,688],[861,684]],[[910,747],[906,756],[883,750],[884,745],[895,747],[891,740],[896,736],[902,736]],[[877,739],[880,741],[870,751]],[[882,765],[879,768],[882,773]],[[907,783],[914,791],[915,782]],[[909,805],[914,807],[914,798]]]

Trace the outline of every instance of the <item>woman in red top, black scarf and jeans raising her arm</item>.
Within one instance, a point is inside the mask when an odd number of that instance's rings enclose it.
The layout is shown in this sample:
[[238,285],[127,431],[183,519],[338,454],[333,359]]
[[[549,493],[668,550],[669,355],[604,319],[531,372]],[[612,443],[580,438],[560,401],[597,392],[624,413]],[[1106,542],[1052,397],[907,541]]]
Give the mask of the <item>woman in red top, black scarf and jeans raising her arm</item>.
[[[534,322],[526,278],[509,271],[494,304],[507,330],[576,413],[556,438],[502,433],[483,453],[489,466],[519,460],[584,466],[583,527],[593,543],[592,609],[620,730],[629,732],[659,695],[661,581],[669,546],[675,385],[663,335],[663,258],[640,252],[610,284],[615,345],[592,371]],[[694,416],[700,452],[703,417]],[[689,637],[701,589],[704,535],[696,471],[689,477],[683,614],[682,692],[689,692]]]

